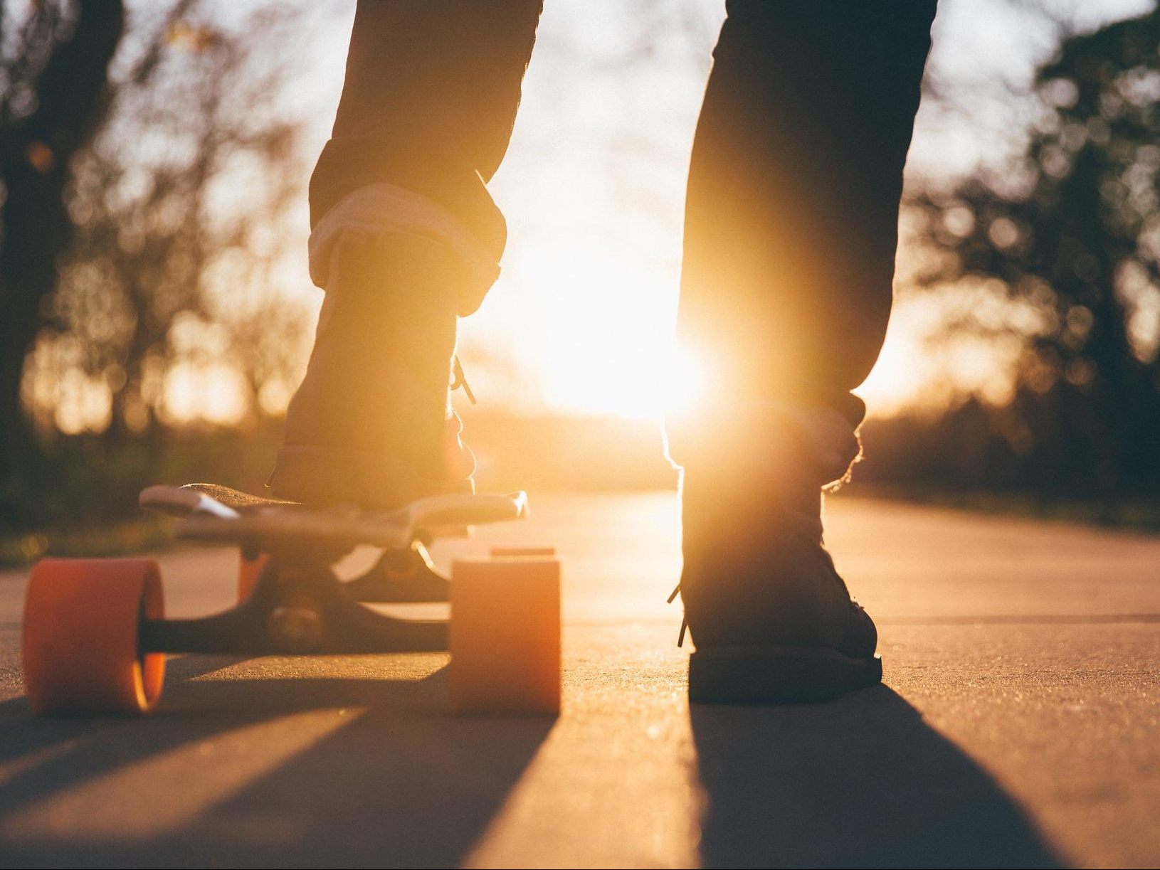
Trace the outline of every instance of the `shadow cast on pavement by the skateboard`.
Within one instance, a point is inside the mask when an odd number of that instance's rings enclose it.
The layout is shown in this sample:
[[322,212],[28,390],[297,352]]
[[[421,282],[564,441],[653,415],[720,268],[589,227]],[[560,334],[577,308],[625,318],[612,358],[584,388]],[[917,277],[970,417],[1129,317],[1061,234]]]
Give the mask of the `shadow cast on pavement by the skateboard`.
[[[554,719],[456,717],[445,669],[420,680],[196,676],[234,660],[171,661],[165,705],[138,719],[34,719],[0,704],[0,860],[23,867],[449,867],[479,840]],[[176,672],[176,673],[174,673]],[[349,708],[341,724],[180,824],[142,835],[22,831],[57,795],[181,747]],[[190,752],[195,755],[196,752]],[[160,792],[180,793],[181,783]]]

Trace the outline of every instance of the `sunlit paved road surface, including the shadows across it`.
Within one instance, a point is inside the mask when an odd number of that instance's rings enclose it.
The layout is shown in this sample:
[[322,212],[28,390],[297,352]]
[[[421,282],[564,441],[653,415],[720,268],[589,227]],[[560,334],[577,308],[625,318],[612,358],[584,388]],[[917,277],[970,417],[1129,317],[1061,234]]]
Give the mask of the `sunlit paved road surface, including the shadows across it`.
[[[552,544],[558,718],[457,717],[438,654],[171,659],[145,718],[35,719],[0,574],[0,862],[102,867],[1155,867],[1160,538],[833,499],[886,682],[690,709],[673,493],[532,496],[440,545]],[[234,557],[160,557],[171,615]]]

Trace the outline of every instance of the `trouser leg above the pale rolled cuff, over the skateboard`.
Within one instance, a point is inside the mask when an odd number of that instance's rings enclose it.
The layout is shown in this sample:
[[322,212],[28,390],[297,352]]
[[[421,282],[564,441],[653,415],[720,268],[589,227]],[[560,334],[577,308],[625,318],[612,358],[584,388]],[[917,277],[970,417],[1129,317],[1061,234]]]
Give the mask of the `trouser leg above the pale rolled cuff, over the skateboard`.
[[485,184],[507,151],[542,6],[362,0],[334,132],[310,182],[311,226],[387,182],[445,209],[498,261],[506,229]]

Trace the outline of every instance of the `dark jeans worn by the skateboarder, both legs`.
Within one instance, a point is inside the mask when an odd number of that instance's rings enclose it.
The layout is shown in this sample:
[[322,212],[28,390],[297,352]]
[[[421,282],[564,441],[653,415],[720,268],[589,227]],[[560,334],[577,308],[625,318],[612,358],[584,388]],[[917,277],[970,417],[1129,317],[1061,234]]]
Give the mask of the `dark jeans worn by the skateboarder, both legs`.
[[[389,182],[443,206],[498,260],[506,230],[486,183],[541,8],[361,1],[312,223]],[[727,12],[689,167],[679,333],[724,398],[832,407],[857,426],[849,391],[886,332],[935,0],[730,0]]]

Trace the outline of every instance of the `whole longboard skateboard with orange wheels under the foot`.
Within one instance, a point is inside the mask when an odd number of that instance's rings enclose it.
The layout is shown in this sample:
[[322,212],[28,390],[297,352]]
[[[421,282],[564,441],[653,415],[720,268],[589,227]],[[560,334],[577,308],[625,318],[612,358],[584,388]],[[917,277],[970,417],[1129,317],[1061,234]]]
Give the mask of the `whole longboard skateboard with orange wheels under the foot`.
[[[391,512],[312,508],[213,484],[151,486],[139,501],[175,516],[177,538],[239,549],[237,604],[201,618],[166,619],[152,559],[42,559],[29,579],[22,651],[36,712],[145,712],[160,697],[168,653],[455,652],[450,621],[407,619],[374,607],[452,599],[465,626],[458,693],[455,668],[451,681],[459,706],[496,701],[507,709],[558,708],[554,553],[496,551],[483,564],[457,561],[447,578],[427,550],[473,525],[523,519],[522,492],[435,495]],[[360,545],[382,554],[369,571],[341,580],[335,563]],[[494,618],[501,593],[515,622]],[[553,608],[554,644],[541,624],[553,624]],[[524,660],[505,667],[512,655]]]

